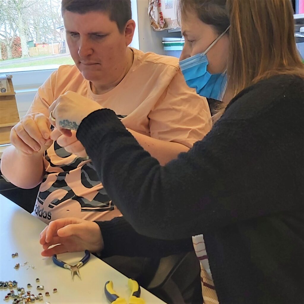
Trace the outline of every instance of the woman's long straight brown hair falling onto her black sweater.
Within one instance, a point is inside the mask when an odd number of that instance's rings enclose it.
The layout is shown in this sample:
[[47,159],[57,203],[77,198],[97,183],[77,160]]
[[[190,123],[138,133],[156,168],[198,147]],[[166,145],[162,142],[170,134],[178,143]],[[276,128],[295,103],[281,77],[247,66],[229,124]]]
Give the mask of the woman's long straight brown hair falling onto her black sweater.
[[230,16],[229,88],[244,88],[276,74],[304,78],[296,49],[290,0],[227,0]]

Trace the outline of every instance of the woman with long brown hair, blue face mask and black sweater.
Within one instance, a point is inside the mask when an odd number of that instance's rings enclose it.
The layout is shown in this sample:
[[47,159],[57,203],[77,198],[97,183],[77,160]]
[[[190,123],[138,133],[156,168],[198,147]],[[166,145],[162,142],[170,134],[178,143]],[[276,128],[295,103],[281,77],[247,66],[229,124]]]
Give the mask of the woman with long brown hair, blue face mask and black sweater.
[[52,123],[78,129],[124,218],[51,222],[42,255],[166,255],[195,236],[204,303],[302,303],[304,66],[291,3],[181,0],[180,9],[181,70],[198,94],[223,100],[217,122],[160,166],[114,112],[93,102],[79,112],[83,97],[61,96]]

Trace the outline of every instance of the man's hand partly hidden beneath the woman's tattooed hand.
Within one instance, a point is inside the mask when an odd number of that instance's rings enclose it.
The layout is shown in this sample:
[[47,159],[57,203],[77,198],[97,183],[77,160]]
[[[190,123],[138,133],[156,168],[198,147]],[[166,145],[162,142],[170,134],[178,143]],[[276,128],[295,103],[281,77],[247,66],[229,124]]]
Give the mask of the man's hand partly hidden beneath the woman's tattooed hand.
[[51,133],[51,139],[57,141],[60,147],[63,147],[67,152],[73,153],[79,157],[87,157],[88,154],[85,147],[76,137],[76,131],[71,131],[71,137],[63,135],[57,128]]

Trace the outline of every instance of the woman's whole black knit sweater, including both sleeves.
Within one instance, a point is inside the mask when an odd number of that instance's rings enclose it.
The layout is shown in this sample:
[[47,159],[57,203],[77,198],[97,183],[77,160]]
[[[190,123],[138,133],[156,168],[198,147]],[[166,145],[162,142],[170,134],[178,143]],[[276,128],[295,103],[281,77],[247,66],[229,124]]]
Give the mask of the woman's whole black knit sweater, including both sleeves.
[[99,223],[106,255],[188,251],[203,233],[221,304],[304,303],[303,79],[245,89],[163,167],[109,109],[77,137],[125,218]]

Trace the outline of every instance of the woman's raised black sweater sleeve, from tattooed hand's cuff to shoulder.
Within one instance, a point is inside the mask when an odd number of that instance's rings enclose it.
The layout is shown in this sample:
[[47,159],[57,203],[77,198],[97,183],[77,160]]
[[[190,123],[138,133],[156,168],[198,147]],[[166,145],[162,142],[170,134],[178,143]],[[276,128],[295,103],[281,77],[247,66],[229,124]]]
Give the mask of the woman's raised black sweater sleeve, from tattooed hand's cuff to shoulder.
[[86,117],[77,137],[138,233],[183,239],[299,208],[303,96],[302,79],[290,76],[247,88],[202,141],[165,166],[109,109]]

